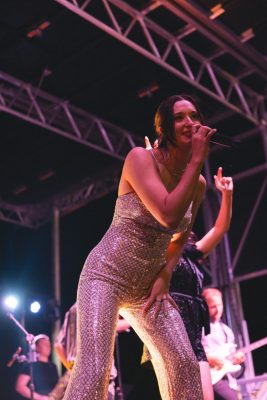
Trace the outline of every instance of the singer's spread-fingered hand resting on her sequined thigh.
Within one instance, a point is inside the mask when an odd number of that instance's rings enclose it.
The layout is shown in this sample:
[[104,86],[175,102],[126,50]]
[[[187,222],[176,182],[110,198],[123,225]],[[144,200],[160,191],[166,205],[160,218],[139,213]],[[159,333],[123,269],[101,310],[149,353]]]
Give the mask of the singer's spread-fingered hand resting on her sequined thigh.
[[178,307],[175,301],[169,294],[169,285],[170,285],[170,274],[163,268],[160,273],[158,274],[157,278],[155,279],[154,283],[152,284],[151,291],[148,297],[148,300],[144,307],[144,315],[146,315],[153,305],[156,302],[155,307],[155,318],[158,317],[160,311],[162,310],[165,317],[167,316],[167,302],[170,302],[173,307],[178,310]]

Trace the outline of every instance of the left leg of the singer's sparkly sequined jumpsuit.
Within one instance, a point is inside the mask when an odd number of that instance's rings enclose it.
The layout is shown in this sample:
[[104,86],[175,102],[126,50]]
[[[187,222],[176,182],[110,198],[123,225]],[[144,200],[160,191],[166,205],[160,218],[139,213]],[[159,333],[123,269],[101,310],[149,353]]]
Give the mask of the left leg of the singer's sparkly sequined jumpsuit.
[[107,400],[119,300],[106,282],[80,279],[77,357],[64,400]]

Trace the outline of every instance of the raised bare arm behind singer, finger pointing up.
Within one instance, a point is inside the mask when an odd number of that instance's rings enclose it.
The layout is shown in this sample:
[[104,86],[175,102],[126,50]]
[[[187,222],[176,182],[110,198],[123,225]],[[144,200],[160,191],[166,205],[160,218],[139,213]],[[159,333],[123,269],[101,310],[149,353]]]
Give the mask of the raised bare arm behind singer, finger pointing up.
[[223,235],[228,231],[232,218],[232,201],[233,201],[233,181],[231,177],[222,176],[222,168],[218,169],[217,175],[214,176],[215,185],[222,193],[221,206],[211,230],[196,242],[196,247],[200,250],[204,257],[213,250],[221,241]]

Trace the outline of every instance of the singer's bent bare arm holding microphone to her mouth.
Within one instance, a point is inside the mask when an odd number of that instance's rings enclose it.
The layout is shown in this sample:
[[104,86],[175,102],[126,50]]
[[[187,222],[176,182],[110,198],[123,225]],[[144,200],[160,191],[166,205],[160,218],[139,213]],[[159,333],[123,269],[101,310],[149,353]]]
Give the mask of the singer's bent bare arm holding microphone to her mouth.
[[163,226],[176,228],[194,197],[213,133],[214,130],[201,126],[193,135],[191,159],[171,192],[165,188],[150,152],[139,147],[133,149],[125,160],[119,194],[126,182]]

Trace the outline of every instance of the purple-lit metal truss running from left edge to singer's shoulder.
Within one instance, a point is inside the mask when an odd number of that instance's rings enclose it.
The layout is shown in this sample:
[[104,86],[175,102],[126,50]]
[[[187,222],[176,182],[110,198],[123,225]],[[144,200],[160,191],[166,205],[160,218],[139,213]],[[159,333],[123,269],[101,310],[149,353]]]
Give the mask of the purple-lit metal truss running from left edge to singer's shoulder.
[[0,111],[119,160],[142,143],[130,132],[3,72]]

